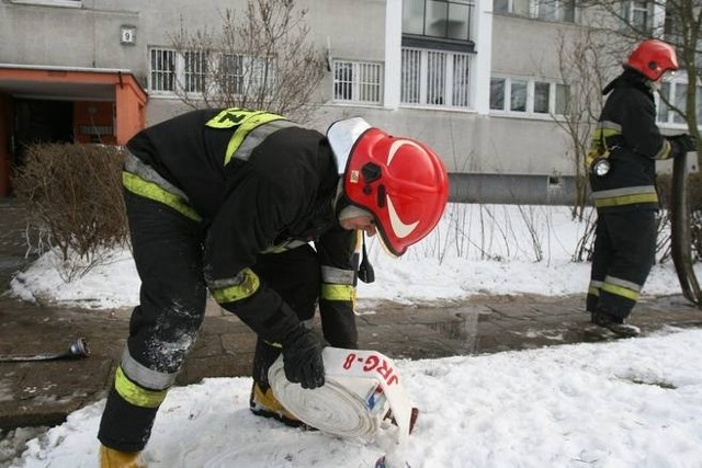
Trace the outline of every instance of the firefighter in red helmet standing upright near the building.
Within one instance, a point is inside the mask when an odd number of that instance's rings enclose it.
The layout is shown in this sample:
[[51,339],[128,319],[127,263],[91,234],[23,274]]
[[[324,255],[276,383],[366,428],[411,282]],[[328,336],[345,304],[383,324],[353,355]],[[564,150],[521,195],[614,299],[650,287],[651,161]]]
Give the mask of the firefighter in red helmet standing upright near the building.
[[664,137],[656,126],[654,91],[667,71],[678,69],[673,48],[644,41],[610,82],[592,147],[586,160],[598,220],[587,310],[592,322],[634,336],[625,323],[655,261],[655,160],[694,149],[689,135]]

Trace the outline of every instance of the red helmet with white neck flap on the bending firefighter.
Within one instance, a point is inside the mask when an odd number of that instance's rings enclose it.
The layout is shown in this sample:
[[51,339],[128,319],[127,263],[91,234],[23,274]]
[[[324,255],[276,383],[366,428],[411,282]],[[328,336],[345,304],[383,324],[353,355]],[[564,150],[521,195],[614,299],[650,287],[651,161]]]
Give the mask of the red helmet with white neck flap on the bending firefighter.
[[392,254],[401,255],[431,232],[449,199],[449,175],[435,152],[361,117],[333,123],[327,138],[343,171],[344,195],[373,215]]

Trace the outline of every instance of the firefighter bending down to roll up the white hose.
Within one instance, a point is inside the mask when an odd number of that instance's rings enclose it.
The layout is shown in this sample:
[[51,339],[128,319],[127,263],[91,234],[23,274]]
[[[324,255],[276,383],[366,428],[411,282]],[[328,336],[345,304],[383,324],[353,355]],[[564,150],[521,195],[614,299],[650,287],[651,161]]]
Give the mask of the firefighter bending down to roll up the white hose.
[[123,181],[141,290],[100,424],[101,466],[139,466],[207,292],[258,335],[253,413],[299,424],[273,396],[269,366],[282,353],[288,380],[325,385],[326,343],[305,321],[318,304],[326,342],[356,347],[358,241],[377,231],[401,255],[427,236],[448,199],[443,163],[421,142],[360,117],[325,136],[240,109],[183,114],[143,130],[127,149]]

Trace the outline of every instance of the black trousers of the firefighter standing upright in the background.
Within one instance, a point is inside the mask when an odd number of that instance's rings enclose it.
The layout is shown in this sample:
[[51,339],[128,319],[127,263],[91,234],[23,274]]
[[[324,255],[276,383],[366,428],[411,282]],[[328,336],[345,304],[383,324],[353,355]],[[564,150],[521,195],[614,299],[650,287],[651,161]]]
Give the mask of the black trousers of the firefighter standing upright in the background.
[[656,253],[656,212],[598,213],[587,310],[623,320],[646,283]]

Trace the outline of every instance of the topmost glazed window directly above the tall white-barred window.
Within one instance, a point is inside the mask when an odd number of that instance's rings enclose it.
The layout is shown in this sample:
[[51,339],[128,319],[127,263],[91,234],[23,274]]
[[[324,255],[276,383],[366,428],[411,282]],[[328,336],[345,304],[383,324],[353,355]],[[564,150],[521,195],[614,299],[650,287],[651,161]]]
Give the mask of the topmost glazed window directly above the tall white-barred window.
[[469,0],[404,0],[403,33],[455,41],[471,41]]

